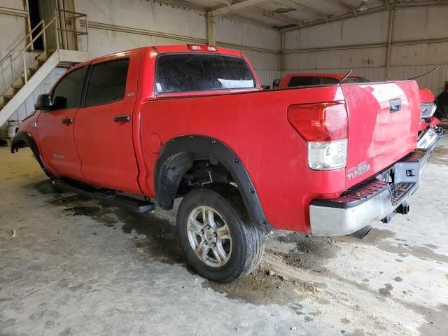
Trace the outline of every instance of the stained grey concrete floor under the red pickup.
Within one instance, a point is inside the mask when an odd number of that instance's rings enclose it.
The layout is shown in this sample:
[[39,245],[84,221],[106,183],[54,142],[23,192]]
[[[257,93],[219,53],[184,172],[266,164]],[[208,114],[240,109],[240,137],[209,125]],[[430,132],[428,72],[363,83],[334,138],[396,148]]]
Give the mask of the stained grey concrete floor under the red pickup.
[[173,211],[57,194],[28,150],[0,162],[0,335],[447,335],[447,140],[409,216],[362,241],[275,232],[224,285],[185,264]]

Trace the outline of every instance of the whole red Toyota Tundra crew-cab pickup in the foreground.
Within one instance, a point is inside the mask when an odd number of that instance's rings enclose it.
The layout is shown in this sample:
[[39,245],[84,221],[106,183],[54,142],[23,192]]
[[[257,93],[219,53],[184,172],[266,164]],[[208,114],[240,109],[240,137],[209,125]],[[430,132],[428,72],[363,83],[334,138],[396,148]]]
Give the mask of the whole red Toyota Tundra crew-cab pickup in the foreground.
[[265,91],[241,52],[158,45],[73,66],[11,151],[29,146],[58,190],[139,212],[183,197],[187,261],[231,281],[273,229],[363,235],[407,214],[419,119],[414,80]]

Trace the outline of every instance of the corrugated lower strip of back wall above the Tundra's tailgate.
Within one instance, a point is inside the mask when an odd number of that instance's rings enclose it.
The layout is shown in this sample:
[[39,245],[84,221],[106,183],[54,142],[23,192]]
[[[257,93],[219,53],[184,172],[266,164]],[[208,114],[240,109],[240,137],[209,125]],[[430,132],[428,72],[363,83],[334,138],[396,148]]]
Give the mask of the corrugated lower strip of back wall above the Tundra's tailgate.
[[[384,80],[391,78],[392,80],[409,79],[416,76],[420,76],[423,73],[431,71],[437,65],[415,65],[415,66],[391,66],[389,68],[390,76],[386,76],[386,67],[370,67],[370,68],[353,68],[353,74],[363,76],[370,80]],[[346,73],[351,69],[349,68],[333,68],[333,69],[300,69],[300,70],[288,70],[286,73],[307,73],[307,72],[328,72],[328,73]],[[429,73],[426,76],[416,79],[419,83],[419,87],[426,87],[431,90],[436,96],[442,90],[444,90],[445,81],[448,81],[448,65],[440,65],[440,69]]]

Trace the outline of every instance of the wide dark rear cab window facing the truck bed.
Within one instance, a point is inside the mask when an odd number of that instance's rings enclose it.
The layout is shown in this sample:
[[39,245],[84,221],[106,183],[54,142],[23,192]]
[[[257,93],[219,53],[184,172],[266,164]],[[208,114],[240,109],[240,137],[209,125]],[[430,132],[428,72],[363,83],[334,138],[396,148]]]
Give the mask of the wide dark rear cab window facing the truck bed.
[[155,66],[158,93],[255,88],[255,78],[240,57],[183,53],[160,55]]

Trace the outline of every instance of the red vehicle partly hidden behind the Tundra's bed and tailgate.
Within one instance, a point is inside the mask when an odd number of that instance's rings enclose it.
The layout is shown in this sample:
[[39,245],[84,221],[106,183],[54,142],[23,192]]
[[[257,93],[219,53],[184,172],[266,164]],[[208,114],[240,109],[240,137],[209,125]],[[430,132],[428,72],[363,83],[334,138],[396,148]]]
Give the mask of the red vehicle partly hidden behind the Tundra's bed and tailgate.
[[[357,75],[349,75],[346,77],[346,73],[289,73],[281,79],[279,89],[311,85],[368,82],[370,82],[370,80],[367,78]],[[423,87],[419,87],[419,93],[421,99],[421,114],[417,148],[432,151],[435,146],[435,142],[432,140],[434,137],[443,137],[445,131],[442,127],[437,127],[440,120],[433,116],[437,109],[433,92]]]

